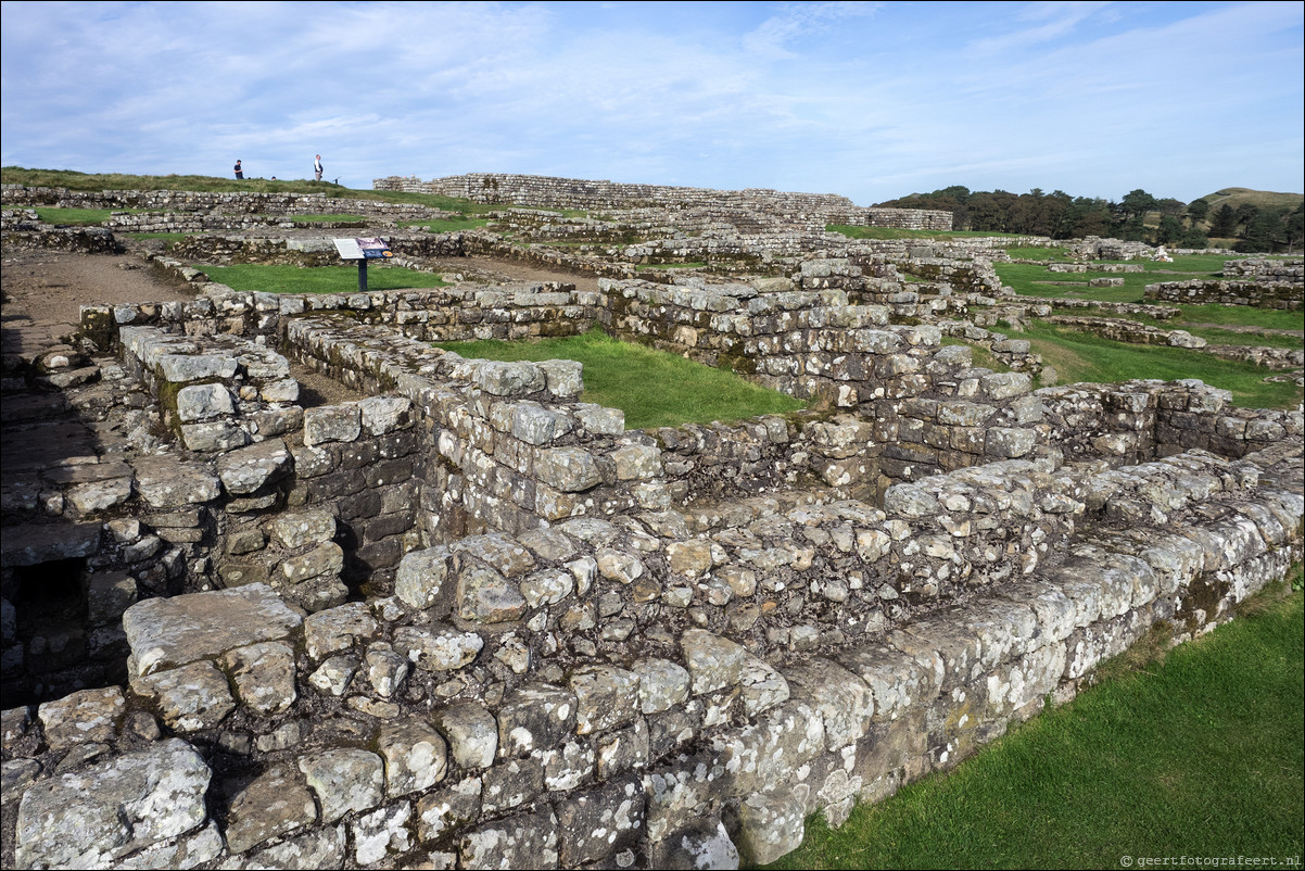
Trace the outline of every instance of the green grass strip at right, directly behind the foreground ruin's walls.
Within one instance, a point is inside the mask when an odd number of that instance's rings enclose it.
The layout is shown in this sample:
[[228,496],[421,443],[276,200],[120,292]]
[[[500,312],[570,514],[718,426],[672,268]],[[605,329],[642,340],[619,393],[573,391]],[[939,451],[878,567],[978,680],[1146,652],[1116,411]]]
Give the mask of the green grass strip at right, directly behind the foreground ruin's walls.
[[1232,390],[1233,404],[1249,409],[1293,409],[1301,402],[1295,384],[1266,384],[1270,371],[1250,363],[1221,360],[1181,347],[1125,345],[1067,326],[1035,321],[1011,338],[1027,338],[1035,354],[1056,368],[1061,384],[1113,384],[1130,379],[1201,379]]

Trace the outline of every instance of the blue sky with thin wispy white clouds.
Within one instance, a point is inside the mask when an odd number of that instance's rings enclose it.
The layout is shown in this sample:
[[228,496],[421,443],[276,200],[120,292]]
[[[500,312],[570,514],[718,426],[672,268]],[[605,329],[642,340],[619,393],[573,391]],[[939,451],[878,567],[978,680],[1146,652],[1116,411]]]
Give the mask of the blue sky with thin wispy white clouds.
[[4,3],[0,162],[1305,191],[1302,3]]

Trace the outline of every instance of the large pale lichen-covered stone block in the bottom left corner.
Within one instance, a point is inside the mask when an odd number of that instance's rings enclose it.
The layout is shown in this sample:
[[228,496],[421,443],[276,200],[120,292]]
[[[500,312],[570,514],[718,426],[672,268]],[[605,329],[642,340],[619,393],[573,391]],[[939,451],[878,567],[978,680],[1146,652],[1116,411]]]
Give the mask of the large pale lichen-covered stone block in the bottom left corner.
[[18,806],[23,867],[99,867],[198,828],[209,767],[179,738],[40,781]]

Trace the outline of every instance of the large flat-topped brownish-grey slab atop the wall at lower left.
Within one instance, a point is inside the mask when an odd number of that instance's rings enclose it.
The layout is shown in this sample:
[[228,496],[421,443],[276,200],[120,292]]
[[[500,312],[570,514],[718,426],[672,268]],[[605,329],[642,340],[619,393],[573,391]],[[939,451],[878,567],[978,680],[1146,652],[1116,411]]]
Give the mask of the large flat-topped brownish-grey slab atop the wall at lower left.
[[123,615],[134,675],[284,639],[303,623],[264,584],[137,602]]

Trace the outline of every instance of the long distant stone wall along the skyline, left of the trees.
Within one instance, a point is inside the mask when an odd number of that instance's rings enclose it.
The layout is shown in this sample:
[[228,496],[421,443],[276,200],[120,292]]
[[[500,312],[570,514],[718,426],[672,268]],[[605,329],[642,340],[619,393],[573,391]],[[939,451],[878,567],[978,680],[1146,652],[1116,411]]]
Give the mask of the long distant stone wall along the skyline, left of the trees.
[[488,204],[544,209],[728,209],[783,215],[795,223],[846,223],[910,230],[950,230],[950,212],[867,209],[833,193],[790,193],[770,189],[713,191],[659,184],[622,184],[540,175],[470,172],[419,182],[414,178],[376,179],[377,191],[415,191]]

